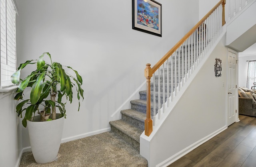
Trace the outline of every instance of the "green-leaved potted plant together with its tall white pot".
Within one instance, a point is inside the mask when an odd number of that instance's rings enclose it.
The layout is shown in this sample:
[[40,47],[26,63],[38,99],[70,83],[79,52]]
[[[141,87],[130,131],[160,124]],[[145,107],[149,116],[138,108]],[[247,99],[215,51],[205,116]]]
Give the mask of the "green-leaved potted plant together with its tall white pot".
[[[48,55],[50,62],[44,61],[44,55]],[[36,64],[36,70],[25,79],[20,79],[21,70],[29,64]],[[73,71],[76,77],[64,71],[63,67]],[[73,100],[72,88],[76,88],[78,111],[80,98],[84,100],[84,90],[81,88],[82,77],[71,67],[52,62],[50,53],[43,53],[38,60],[29,60],[20,64],[11,79],[12,83],[19,84],[14,97],[15,100],[20,100],[16,112],[20,118],[23,118],[22,125],[25,128],[28,125],[33,156],[37,163],[52,161],[60,147],[64,118],[66,118],[65,104],[68,101],[72,103]],[[24,99],[24,90],[30,91],[30,98]],[[56,107],[60,111],[58,114]],[[22,112],[25,112],[25,115],[22,116]],[[36,113],[39,115],[36,116]]]

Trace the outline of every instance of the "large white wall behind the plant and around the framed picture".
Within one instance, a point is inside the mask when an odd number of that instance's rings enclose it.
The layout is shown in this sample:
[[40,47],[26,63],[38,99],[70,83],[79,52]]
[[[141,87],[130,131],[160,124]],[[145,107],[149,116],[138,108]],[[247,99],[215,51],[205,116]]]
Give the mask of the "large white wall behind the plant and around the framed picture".
[[[142,84],[156,63],[198,22],[198,0],[164,1],[162,37],[132,29],[132,1],[17,1],[18,64],[50,52],[82,75],[85,100],[67,105],[62,139],[109,130],[111,114]],[[184,17],[184,11],[190,15]],[[23,147],[30,146],[22,128]]]

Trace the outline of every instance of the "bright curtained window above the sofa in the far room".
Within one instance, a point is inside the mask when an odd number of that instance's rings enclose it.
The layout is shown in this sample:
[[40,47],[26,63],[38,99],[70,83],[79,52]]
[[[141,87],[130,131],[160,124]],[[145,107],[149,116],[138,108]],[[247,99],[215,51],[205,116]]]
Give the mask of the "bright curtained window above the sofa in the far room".
[[246,87],[250,89],[252,86],[255,86],[253,83],[256,83],[256,60],[248,61]]

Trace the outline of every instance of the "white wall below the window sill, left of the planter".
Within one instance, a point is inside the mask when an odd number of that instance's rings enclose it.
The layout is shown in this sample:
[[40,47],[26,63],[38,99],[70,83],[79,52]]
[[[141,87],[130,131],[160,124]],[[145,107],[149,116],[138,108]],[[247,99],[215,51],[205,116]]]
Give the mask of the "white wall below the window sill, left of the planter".
[[22,150],[20,123],[14,106],[14,93],[0,92],[0,167],[14,167]]

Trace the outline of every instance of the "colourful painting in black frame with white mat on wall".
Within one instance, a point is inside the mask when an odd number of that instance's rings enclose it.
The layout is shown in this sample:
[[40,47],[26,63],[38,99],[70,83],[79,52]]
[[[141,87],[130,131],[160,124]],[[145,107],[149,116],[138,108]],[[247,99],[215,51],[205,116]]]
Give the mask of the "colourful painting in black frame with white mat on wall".
[[162,4],[154,0],[132,0],[132,29],[162,37]]

